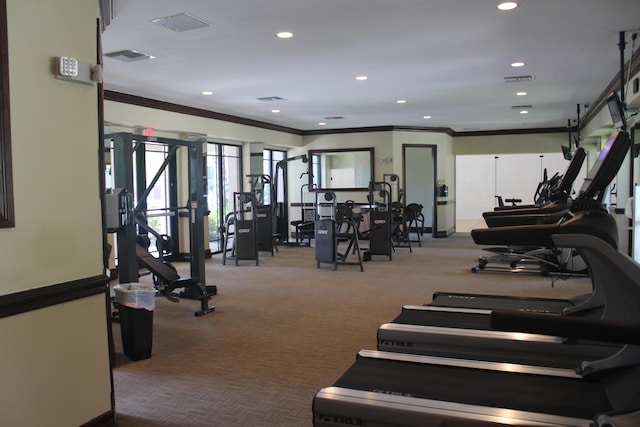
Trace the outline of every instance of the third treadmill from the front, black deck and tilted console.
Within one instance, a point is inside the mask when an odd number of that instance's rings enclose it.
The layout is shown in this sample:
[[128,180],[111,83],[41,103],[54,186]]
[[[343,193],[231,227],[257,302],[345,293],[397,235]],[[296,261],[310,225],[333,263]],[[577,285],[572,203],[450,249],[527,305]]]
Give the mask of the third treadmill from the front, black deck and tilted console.
[[[573,201],[571,218],[557,224],[521,225],[472,230],[478,244],[555,247],[551,236],[560,234],[587,234],[600,238],[614,248],[618,247],[618,228],[615,219],[601,203],[604,192],[618,173],[631,140],[623,131],[614,132],[602,149],[598,159]],[[571,246],[569,246],[571,247]],[[578,250],[579,253],[579,250]],[[583,257],[584,259],[584,257]],[[587,263],[588,264],[588,263]],[[465,293],[437,292],[430,305],[492,309],[497,307],[532,309],[536,311],[571,313],[602,305],[599,287],[594,282],[593,293],[570,300],[544,301],[530,298],[512,298]],[[548,307],[548,308],[547,308]]]

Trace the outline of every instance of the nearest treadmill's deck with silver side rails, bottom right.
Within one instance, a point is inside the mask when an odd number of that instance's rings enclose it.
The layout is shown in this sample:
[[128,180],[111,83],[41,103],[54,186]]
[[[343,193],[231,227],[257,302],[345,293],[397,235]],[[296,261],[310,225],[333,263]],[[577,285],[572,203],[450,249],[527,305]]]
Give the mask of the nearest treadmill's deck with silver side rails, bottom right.
[[316,393],[313,424],[591,427],[629,417],[631,426],[640,421],[639,380],[638,366],[585,378],[563,369],[364,350]]

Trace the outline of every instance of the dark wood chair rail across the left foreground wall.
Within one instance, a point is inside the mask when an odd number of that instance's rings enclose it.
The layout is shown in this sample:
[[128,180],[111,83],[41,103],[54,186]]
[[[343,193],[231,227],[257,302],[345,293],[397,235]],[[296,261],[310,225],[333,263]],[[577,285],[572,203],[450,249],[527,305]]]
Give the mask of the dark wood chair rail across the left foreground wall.
[[56,304],[105,294],[109,290],[108,284],[109,278],[100,275],[13,294],[0,295],[0,319]]

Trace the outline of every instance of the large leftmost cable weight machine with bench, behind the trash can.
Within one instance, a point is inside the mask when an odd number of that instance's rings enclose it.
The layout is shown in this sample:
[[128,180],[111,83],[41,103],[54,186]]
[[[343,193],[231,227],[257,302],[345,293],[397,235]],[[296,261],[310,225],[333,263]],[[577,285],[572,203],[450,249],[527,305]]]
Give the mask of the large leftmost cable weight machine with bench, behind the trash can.
[[[214,311],[208,301],[217,293],[215,286],[205,283],[204,269],[204,140],[182,141],[170,138],[147,137],[132,133],[114,133],[105,135],[113,143],[114,187],[118,191],[107,194],[115,199],[107,202],[107,207],[115,206],[117,224],[108,227],[108,232],[117,235],[118,275],[120,283],[134,283],[140,277],[139,267],[147,268],[154,275],[154,285],[158,294],[177,302],[180,298],[200,301],[200,310],[196,316]],[[146,144],[169,147],[166,157],[158,171],[146,182],[145,146]],[[107,144],[106,144],[107,145]],[[178,207],[177,189],[170,188],[169,200],[174,207],[166,209],[170,219],[172,239],[163,238],[148,224],[147,198],[162,173],[176,174],[176,154],[178,150],[188,152],[188,202]],[[134,174],[134,167],[136,173]],[[134,204],[135,201],[135,204]],[[112,215],[113,216],[113,215]],[[191,276],[182,278],[176,269],[164,259],[169,240],[179,241],[179,218],[188,219],[189,265]],[[151,234],[158,242],[158,257],[148,251],[148,245],[141,244]],[[146,238],[146,239],[145,239]],[[165,247],[163,248],[163,243]],[[173,251],[175,257],[175,251]]]

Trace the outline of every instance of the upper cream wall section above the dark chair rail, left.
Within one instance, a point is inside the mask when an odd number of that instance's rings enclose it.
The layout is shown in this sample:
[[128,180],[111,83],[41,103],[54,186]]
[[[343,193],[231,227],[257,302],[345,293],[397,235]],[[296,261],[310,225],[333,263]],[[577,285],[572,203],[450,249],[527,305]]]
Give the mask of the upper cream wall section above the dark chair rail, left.
[[95,2],[7,3],[16,227],[0,253],[21,255],[0,257],[0,294],[100,274],[102,259],[96,88],[51,73],[55,56],[95,63]]

